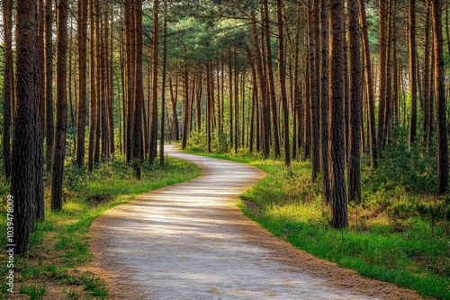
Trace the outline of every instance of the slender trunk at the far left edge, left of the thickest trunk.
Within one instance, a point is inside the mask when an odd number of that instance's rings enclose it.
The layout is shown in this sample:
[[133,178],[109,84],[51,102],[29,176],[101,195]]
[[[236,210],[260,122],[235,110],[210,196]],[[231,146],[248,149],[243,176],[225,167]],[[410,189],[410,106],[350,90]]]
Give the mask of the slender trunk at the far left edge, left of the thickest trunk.
[[11,109],[13,104],[13,0],[3,1],[4,89],[3,89],[3,159],[4,175],[11,177]]

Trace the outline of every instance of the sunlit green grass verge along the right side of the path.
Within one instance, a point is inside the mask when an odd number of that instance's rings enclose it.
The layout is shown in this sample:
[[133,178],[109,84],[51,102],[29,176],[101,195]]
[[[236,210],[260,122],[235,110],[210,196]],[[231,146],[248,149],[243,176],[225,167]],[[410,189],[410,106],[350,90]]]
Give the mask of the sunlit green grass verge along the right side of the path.
[[[329,227],[329,207],[322,204],[320,184],[311,182],[311,163],[295,161],[287,169],[281,161],[245,154],[187,152],[248,163],[266,172],[263,180],[241,195],[239,207],[276,236],[365,277],[392,282],[422,296],[450,299],[448,223],[433,228],[428,219],[417,215],[394,217],[392,207],[418,201],[403,190],[373,190],[370,200],[348,207],[350,227],[337,231]],[[389,205],[380,200],[381,195]],[[246,201],[257,205],[246,206]]]

